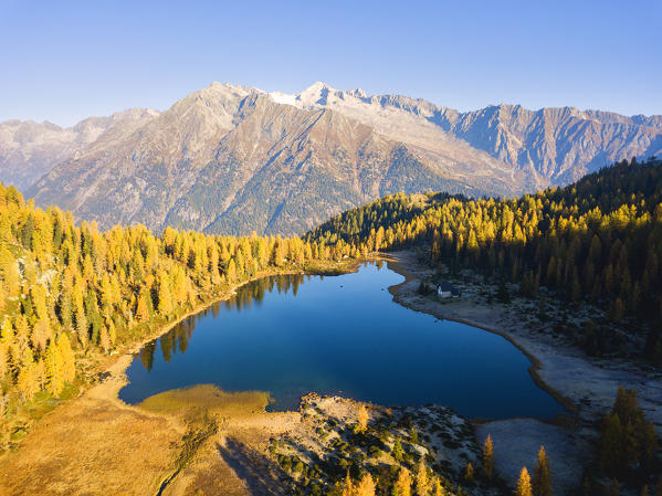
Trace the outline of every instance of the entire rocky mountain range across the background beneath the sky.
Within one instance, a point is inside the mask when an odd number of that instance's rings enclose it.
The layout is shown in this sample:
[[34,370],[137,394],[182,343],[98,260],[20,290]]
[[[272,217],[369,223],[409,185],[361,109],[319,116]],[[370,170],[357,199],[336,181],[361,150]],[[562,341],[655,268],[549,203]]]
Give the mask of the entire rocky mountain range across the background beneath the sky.
[[0,180],[102,228],[298,234],[391,192],[511,197],[661,151],[662,116],[214,83],[164,113],[1,123]]

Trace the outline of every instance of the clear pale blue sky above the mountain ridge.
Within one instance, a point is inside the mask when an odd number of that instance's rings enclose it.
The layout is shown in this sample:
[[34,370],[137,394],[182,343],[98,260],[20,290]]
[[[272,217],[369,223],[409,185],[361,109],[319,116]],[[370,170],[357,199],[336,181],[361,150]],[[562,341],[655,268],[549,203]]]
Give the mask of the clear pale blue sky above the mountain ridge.
[[0,0],[0,120],[315,81],[475,109],[662,114],[662,0]]

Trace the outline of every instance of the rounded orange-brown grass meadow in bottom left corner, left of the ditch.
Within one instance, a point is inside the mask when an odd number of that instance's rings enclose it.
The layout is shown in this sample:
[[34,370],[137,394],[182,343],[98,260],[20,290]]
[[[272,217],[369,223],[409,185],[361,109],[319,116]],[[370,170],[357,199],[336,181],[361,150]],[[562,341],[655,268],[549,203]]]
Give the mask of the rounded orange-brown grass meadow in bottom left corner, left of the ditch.
[[85,395],[55,409],[0,458],[2,495],[149,495],[180,437],[166,419]]

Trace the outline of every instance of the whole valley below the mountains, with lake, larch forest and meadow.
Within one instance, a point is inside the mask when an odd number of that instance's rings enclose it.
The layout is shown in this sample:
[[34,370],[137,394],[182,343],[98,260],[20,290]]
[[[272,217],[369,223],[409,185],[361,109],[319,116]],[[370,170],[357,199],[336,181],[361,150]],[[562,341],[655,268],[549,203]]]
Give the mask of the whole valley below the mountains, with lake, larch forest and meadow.
[[290,239],[99,233],[4,188],[0,490],[496,496],[540,463],[558,495],[654,483],[660,170],[399,193]]

